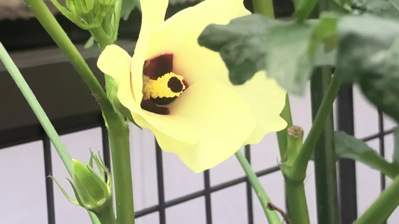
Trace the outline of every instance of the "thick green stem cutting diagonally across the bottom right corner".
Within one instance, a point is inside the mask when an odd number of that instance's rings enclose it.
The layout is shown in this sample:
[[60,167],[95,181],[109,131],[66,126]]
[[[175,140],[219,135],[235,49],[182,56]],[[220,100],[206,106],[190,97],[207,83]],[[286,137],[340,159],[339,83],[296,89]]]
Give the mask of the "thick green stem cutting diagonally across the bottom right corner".
[[381,224],[399,205],[399,176],[353,224]]

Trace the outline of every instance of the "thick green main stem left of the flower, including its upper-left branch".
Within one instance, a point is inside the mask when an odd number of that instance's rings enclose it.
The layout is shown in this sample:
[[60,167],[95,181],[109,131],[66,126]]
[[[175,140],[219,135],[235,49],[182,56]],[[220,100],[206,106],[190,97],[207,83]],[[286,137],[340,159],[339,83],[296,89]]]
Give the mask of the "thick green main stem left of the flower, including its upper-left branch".
[[[93,72],[90,70],[87,63],[85,63],[83,57],[80,55],[79,51],[77,51],[61,26],[59,26],[43,0],[26,0],[26,2],[41,25],[79,71],[79,74],[87,83],[100,104],[105,121],[109,127],[118,223],[134,224],[128,126],[124,120],[120,119],[119,114],[115,112],[113,105],[107,98],[105,91],[95,78]],[[95,39],[97,41],[107,42],[101,43],[100,45],[106,46],[113,42],[104,35],[105,33],[103,30],[93,29],[91,32],[96,35]]]

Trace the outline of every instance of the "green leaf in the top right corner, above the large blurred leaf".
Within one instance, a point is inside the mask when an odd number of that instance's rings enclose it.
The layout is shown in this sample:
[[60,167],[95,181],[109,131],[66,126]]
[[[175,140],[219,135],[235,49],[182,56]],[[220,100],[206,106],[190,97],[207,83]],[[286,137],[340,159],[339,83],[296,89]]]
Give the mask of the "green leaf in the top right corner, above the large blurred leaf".
[[359,12],[399,19],[399,0],[353,0]]

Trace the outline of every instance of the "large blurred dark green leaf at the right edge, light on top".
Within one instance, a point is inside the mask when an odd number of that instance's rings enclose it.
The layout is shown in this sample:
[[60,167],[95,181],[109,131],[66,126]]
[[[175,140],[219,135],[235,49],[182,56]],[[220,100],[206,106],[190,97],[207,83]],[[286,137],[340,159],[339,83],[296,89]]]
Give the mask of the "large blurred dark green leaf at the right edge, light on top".
[[399,121],[399,23],[348,16],[338,30],[336,77],[358,83],[377,108]]

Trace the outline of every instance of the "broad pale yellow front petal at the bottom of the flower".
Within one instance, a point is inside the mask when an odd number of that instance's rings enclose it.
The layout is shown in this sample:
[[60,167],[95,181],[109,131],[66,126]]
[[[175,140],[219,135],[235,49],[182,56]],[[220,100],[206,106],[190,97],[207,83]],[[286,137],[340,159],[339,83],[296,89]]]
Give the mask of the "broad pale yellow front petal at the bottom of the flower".
[[196,173],[233,155],[256,123],[247,104],[231,88],[213,80],[193,84],[170,108],[172,115],[192,122],[199,141],[188,145],[155,132],[156,139],[162,149],[176,153]]

